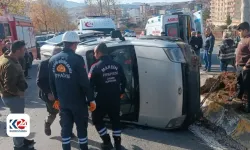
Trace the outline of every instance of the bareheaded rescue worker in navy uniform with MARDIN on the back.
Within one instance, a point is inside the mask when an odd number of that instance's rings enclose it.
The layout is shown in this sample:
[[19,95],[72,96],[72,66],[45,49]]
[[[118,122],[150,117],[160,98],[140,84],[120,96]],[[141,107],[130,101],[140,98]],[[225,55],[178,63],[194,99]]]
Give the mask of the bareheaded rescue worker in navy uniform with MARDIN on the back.
[[120,64],[108,56],[108,48],[105,43],[99,44],[94,55],[97,60],[89,72],[90,84],[95,89],[95,101],[97,108],[92,112],[93,124],[103,140],[102,149],[113,148],[104,117],[109,116],[116,150],[121,149],[121,126],[120,126],[120,99],[125,93],[126,77]]

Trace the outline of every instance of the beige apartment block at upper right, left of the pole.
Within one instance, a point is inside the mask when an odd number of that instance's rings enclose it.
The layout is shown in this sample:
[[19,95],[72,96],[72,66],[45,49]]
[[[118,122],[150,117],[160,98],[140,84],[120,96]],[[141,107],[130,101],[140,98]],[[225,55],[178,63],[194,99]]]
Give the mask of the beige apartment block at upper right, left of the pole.
[[211,21],[215,26],[226,25],[227,16],[232,25],[238,25],[241,18],[241,0],[211,0]]

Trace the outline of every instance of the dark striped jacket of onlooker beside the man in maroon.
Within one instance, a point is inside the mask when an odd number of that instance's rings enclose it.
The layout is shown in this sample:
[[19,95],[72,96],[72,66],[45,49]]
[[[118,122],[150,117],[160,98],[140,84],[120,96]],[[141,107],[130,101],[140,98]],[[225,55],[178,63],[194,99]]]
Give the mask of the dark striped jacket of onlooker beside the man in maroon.
[[221,60],[235,59],[234,41],[232,39],[222,41],[218,56]]

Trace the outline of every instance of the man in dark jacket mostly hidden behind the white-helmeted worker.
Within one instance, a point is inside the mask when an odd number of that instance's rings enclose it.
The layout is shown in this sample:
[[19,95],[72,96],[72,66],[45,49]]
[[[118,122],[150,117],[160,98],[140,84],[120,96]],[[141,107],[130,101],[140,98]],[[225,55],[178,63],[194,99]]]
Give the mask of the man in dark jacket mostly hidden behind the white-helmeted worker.
[[[55,48],[52,55],[56,55],[61,52],[61,48]],[[49,113],[44,123],[44,132],[47,136],[51,135],[51,124],[55,121],[58,110],[53,108],[55,98],[51,92],[49,86],[49,59],[42,61],[38,66],[36,83],[39,87],[39,97],[46,103],[47,112]],[[75,135],[72,133],[71,138]]]

